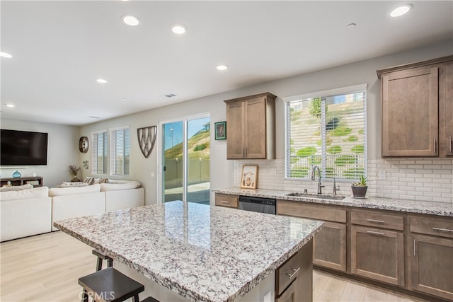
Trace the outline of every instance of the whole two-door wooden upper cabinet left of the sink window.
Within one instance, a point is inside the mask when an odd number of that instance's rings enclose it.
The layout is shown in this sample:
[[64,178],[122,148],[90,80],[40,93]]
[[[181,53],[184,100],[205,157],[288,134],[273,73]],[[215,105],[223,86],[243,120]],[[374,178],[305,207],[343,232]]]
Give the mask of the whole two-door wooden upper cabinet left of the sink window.
[[275,98],[260,93],[224,101],[227,159],[275,159]]

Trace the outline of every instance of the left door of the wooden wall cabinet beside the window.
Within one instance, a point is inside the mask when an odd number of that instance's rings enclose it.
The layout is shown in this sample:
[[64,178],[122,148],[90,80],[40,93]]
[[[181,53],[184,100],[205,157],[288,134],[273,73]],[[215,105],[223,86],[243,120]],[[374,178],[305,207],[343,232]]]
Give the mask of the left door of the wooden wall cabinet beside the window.
[[226,104],[226,158],[244,157],[244,105],[242,101]]

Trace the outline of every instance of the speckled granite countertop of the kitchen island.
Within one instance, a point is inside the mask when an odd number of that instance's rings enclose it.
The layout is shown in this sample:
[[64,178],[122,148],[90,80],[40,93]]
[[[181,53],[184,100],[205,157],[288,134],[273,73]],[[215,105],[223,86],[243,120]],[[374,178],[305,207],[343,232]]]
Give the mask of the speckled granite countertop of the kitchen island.
[[167,202],[54,225],[191,301],[234,301],[322,228],[320,221]]

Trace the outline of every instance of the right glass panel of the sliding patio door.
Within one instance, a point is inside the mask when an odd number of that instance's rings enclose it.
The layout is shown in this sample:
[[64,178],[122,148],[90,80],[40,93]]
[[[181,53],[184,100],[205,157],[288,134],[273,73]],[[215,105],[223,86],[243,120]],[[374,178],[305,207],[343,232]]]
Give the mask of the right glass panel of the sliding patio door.
[[210,204],[210,117],[187,121],[187,201]]

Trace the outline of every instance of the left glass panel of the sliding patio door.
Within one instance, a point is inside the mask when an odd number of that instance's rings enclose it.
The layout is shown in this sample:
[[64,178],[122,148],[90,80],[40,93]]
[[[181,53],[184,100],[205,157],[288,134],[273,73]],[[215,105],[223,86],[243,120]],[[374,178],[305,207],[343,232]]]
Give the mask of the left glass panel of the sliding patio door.
[[183,122],[163,124],[163,190],[164,202],[183,200]]

